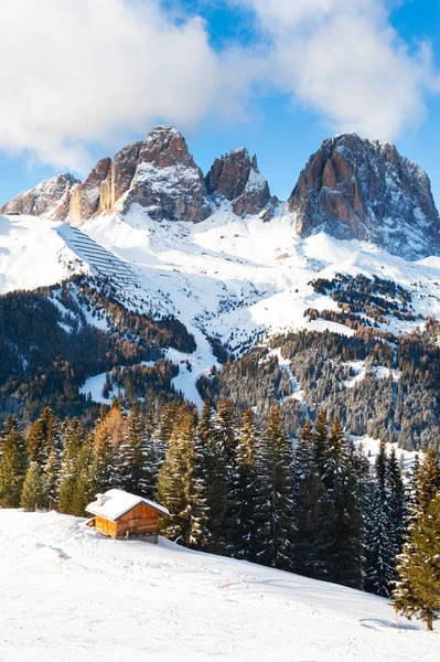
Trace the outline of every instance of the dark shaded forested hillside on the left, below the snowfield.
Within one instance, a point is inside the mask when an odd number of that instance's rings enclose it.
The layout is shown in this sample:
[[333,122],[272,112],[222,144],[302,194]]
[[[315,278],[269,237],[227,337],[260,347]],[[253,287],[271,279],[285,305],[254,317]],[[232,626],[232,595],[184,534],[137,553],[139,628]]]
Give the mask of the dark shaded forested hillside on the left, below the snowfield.
[[[107,320],[107,330],[87,323]],[[127,310],[109,287],[75,277],[58,287],[15,291],[0,297],[0,417],[11,410],[34,420],[43,404],[60,416],[79,416],[97,406],[78,388],[87,377],[128,366],[121,378],[129,392],[153,402],[174,394],[175,367],[158,361],[161,348],[191,352],[194,339],[174,318],[153,321]]]

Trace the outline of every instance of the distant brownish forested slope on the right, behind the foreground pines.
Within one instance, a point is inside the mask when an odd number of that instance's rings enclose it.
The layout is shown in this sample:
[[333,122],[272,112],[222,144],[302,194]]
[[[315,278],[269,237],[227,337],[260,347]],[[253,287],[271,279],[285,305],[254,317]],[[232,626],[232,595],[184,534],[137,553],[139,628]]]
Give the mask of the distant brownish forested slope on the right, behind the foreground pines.
[[[291,393],[288,371],[275,353],[258,346],[221,373],[201,380],[215,405],[228,398],[237,409],[253,407],[262,425],[269,409],[282,402],[289,435],[298,438],[307,416],[324,408],[330,419],[339,415],[344,429],[356,436],[386,437],[407,450],[439,450],[440,348],[438,324],[427,321],[423,333],[398,338],[359,328],[346,337],[329,331],[297,331],[270,339],[272,348],[290,361],[291,374],[303,403]],[[363,378],[353,382],[353,362],[363,361]],[[380,369],[380,370],[379,370]],[[388,375],[384,371],[388,372]],[[401,373],[401,374],[400,374]]]

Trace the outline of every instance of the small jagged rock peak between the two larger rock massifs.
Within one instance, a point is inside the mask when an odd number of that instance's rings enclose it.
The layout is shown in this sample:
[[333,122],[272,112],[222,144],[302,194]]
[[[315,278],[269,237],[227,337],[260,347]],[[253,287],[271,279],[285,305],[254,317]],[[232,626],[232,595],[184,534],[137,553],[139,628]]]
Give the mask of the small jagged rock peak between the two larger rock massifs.
[[257,157],[250,160],[244,147],[215,159],[205,183],[212,196],[226,197],[240,216],[258,214],[273,201],[269,184],[258,170]]

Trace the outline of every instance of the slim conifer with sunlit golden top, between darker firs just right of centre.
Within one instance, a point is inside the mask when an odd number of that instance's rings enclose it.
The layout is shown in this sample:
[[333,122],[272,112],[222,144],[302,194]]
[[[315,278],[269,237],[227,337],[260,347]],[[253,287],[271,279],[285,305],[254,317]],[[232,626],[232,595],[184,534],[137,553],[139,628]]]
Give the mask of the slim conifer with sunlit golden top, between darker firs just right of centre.
[[257,470],[258,434],[251,409],[242,417],[235,450],[232,490],[234,556],[254,559],[257,551]]

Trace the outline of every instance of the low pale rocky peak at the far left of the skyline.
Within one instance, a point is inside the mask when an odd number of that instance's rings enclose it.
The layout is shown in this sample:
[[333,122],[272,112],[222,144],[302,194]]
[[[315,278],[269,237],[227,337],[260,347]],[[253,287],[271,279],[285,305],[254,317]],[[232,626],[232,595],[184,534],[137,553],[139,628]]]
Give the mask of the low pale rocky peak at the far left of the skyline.
[[72,190],[78,183],[79,180],[67,172],[57,174],[17,195],[0,209],[0,213],[29,216],[45,214],[54,221],[64,221],[68,214]]

